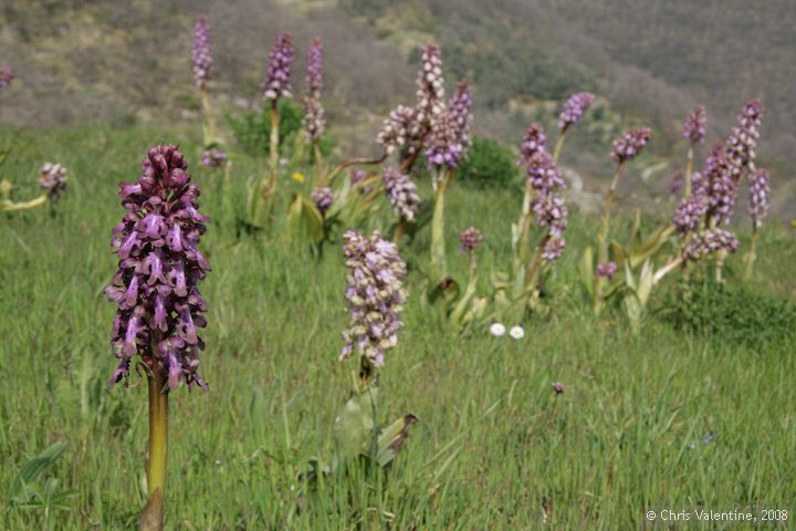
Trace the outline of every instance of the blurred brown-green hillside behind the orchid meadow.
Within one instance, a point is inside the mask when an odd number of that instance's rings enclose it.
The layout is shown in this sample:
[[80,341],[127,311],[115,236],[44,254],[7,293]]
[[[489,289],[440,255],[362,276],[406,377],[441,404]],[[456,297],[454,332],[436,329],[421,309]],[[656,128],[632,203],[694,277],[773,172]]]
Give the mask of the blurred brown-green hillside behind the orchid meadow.
[[212,25],[211,90],[223,113],[259,105],[281,30],[295,38],[301,95],[306,43],[322,37],[324,97],[342,149],[376,149],[383,117],[413,102],[419,46],[429,41],[442,46],[449,86],[461,76],[473,82],[480,135],[517,144],[530,121],[551,131],[570,93],[601,96],[568,140],[567,164],[587,178],[607,174],[609,142],[621,128],[652,126],[649,164],[666,178],[652,179],[650,191],[664,189],[680,165],[679,133],[691,107],[708,106],[710,143],[760,97],[767,111],[761,164],[785,186],[775,208],[794,202],[792,0],[4,0],[0,64],[11,64],[18,79],[0,95],[0,119],[196,122],[197,14]]

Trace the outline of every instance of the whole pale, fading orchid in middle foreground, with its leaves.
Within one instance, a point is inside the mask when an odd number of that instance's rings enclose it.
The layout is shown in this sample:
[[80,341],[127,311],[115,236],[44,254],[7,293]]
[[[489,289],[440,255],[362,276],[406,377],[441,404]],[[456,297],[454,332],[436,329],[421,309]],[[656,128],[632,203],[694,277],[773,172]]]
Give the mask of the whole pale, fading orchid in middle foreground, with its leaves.
[[381,427],[376,418],[378,372],[385,366],[385,355],[397,346],[404,325],[400,313],[407,300],[407,269],[397,246],[378,232],[368,238],[348,230],[343,240],[349,271],[345,291],[349,322],[343,331],[339,357],[358,356],[359,364],[352,375],[350,397],[335,421],[335,466],[357,456],[385,466],[395,458],[416,420],[405,415]]

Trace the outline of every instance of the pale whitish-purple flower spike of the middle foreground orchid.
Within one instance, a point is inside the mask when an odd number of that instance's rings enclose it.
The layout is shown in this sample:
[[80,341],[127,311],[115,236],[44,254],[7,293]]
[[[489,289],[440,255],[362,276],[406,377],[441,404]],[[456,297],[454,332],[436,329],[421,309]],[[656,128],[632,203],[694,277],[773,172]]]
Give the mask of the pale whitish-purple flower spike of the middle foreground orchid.
[[396,244],[383,240],[378,232],[365,238],[348,230],[343,240],[345,264],[352,273],[345,292],[350,320],[343,332],[341,360],[356,348],[371,365],[380,367],[385,351],[396,345],[398,330],[404,325],[398,314],[407,298],[406,263]]

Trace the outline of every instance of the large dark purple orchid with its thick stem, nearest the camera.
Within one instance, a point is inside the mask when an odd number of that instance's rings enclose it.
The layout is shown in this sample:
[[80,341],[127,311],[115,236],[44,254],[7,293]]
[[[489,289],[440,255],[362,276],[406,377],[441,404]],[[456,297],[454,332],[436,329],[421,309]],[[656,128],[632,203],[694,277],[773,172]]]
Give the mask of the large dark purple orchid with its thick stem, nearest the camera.
[[207,218],[187,170],[176,146],[160,145],[147,153],[137,183],[119,185],[126,214],[112,240],[119,262],[105,289],[118,303],[111,339],[118,367],[109,385],[127,385],[138,355],[149,388],[148,498],[139,520],[145,531],[163,529],[169,392],[181,384],[207,388],[197,373],[205,348],[197,327],[207,323],[198,284],[210,270],[197,246]]

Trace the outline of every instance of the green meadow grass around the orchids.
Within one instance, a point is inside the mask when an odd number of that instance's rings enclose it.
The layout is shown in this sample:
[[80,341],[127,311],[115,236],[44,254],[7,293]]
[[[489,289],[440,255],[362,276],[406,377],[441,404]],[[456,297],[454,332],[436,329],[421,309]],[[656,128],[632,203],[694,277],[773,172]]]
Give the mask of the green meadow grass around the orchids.
[[[3,132],[2,145],[11,136]],[[22,132],[0,166],[25,198],[38,194],[23,184],[44,160],[70,170],[54,215],[0,217],[1,529],[53,519],[11,503],[10,492],[23,465],[56,441],[66,449],[43,478],[74,491],[54,513],[56,528],[135,527],[146,386],[106,388],[114,306],[101,290],[115,271],[116,183],[135,179],[146,149],[163,140],[198,162],[193,136],[180,131],[86,126]],[[262,163],[233,160],[242,206],[244,181]],[[386,477],[307,490],[296,477],[312,457],[329,457],[356,363],[337,362],[342,253],[329,246],[318,260],[279,236],[235,239],[213,176],[192,167],[203,211],[217,219],[202,241],[213,271],[202,290],[210,311],[200,372],[211,391],[171,395],[167,529],[537,529],[549,518],[553,529],[612,530],[646,527],[648,508],[796,511],[794,344],[743,347],[654,317],[637,337],[619,314],[595,319],[576,277],[595,219],[577,215],[551,280],[554,315],[528,323],[522,341],[448,332],[421,296],[428,231],[406,243],[410,303],[383,374],[380,416],[410,412],[419,423]],[[485,271],[507,268],[520,201],[513,190],[452,189],[449,261],[460,278],[455,240],[470,223],[486,237]],[[760,289],[793,294],[793,237],[766,230],[761,251]],[[714,440],[702,444],[709,431]]]

